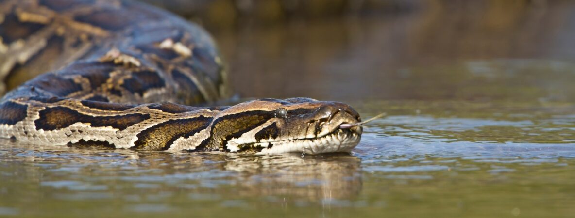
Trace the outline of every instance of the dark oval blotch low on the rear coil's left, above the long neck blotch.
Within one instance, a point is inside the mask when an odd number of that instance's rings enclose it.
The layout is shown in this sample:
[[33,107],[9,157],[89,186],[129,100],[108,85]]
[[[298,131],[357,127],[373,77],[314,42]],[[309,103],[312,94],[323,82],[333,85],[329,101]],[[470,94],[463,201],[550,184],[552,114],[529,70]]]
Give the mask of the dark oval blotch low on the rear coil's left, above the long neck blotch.
[[73,79],[64,79],[54,73],[47,73],[30,80],[28,85],[50,92],[56,96],[64,97],[74,92],[82,91],[82,85]]

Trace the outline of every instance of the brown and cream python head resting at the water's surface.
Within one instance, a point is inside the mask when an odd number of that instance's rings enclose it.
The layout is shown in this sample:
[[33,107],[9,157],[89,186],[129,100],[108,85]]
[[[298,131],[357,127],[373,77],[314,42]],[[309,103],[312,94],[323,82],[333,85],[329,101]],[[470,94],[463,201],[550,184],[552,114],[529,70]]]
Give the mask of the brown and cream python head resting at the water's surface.
[[348,104],[309,98],[259,99],[227,108],[210,128],[219,150],[260,154],[349,152],[360,141],[359,114]]

